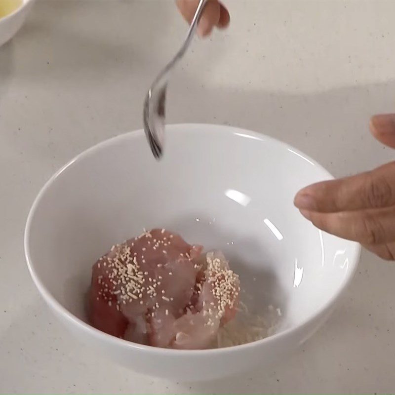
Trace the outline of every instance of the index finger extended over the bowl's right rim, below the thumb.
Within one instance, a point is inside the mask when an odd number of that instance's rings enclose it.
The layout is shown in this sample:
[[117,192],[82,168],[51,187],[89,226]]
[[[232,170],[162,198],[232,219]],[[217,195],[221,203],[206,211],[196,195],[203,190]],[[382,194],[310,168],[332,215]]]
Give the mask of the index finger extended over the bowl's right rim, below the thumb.
[[338,212],[395,204],[395,162],[339,180],[319,182],[302,189],[295,206],[318,212]]

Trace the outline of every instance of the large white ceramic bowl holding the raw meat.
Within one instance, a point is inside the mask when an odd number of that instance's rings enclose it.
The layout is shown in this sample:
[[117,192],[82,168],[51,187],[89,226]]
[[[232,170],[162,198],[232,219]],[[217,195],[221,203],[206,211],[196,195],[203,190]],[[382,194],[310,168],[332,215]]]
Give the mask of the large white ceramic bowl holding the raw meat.
[[[300,188],[329,178],[295,149],[229,126],[168,126],[160,162],[142,131],[124,134],[73,159],[41,190],[26,225],[29,270],[79,340],[136,371],[199,381],[264,366],[316,331],[356,270],[359,246],[319,232],[293,206]],[[222,249],[253,296],[250,308],[281,309],[277,333],[227,349],[178,351],[89,326],[83,300],[92,264],[153,227]]]

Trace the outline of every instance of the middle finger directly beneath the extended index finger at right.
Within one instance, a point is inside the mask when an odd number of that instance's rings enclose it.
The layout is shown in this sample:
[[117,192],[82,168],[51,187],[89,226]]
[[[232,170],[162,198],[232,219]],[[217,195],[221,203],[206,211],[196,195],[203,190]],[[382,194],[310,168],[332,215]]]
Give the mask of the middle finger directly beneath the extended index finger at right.
[[395,240],[395,207],[339,213],[301,210],[317,228],[361,244],[384,244]]

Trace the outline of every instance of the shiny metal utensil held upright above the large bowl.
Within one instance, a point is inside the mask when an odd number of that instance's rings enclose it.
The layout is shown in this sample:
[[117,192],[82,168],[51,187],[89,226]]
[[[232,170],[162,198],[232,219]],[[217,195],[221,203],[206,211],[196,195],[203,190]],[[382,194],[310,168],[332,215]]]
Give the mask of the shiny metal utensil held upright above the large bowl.
[[150,144],[151,151],[156,159],[160,159],[163,153],[164,123],[165,123],[165,102],[166,88],[169,76],[176,64],[182,59],[187,51],[197,27],[200,15],[207,0],[200,0],[188,30],[187,37],[174,58],[159,73],[158,77],[151,85],[144,100],[144,131]]

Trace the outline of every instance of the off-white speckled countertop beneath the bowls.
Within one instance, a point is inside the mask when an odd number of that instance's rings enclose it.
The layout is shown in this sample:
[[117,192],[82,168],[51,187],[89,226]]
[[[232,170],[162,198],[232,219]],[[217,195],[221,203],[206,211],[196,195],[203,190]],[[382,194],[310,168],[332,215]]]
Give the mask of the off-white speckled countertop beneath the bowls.
[[[336,176],[394,158],[367,124],[395,111],[395,2],[229,8],[231,28],[195,42],[174,75],[170,122],[262,131]],[[185,31],[172,1],[39,1],[0,48],[0,393],[393,392],[395,265],[366,252],[341,307],[296,355],[199,385],[109,362],[40,299],[22,242],[34,197],[82,150],[141,128],[146,89]]]

